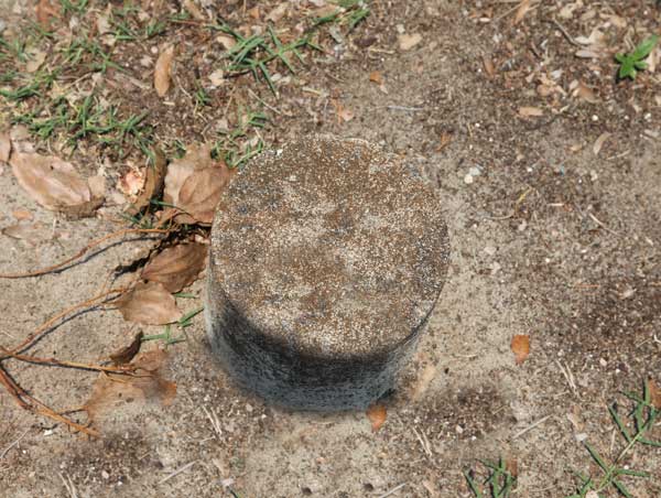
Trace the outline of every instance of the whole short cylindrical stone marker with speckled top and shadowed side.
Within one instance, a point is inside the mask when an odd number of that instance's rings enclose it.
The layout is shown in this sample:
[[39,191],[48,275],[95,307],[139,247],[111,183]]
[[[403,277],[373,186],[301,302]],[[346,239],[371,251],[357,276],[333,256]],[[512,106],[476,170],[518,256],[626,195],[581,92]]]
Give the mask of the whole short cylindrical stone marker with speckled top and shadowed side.
[[362,140],[317,136],[253,160],[212,230],[214,351],[245,387],[304,410],[393,388],[445,281],[441,201]]

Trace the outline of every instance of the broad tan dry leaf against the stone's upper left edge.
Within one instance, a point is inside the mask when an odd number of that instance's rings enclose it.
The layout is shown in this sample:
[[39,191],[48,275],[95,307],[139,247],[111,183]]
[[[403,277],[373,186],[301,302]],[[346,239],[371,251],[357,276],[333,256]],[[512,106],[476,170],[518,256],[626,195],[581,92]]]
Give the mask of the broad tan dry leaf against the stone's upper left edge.
[[177,207],[184,213],[176,217],[177,223],[210,224],[230,178],[225,164],[193,172],[180,191]]

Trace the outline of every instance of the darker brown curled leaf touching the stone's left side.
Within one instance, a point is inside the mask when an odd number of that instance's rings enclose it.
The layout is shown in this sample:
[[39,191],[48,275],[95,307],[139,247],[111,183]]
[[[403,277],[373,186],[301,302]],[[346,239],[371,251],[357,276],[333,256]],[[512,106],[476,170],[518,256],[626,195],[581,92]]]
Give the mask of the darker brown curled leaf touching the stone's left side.
[[207,247],[203,243],[181,243],[154,257],[142,270],[142,279],[160,282],[169,292],[180,292],[191,285],[206,267]]

